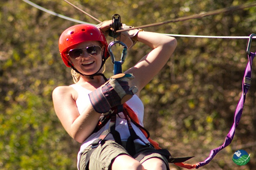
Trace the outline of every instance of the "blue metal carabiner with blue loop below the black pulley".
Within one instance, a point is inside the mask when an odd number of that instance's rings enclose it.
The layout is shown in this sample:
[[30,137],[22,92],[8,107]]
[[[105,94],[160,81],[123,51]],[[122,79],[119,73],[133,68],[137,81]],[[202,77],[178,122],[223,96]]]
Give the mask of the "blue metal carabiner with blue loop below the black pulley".
[[[120,44],[123,46],[123,51],[122,51],[122,56],[121,56],[121,60],[120,61],[116,61],[114,54],[112,52],[112,46],[116,45],[116,43]],[[108,53],[111,57],[112,63],[114,64],[114,74],[119,74],[122,73],[122,64],[125,62],[125,57],[127,54],[127,46],[125,45],[125,43],[121,42],[121,41],[113,41],[111,43],[109,43],[108,45]]]

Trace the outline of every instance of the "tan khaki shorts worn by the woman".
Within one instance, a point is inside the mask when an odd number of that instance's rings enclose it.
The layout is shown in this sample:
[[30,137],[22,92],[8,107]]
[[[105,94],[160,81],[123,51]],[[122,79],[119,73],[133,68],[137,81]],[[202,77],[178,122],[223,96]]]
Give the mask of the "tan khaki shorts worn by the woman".
[[[91,149],[91,145],[88,146],[84,153],[81,155],[80,159],[80,170],[85,170],[85,159],[88,151]],[[151,147],[143,147],[140,148],[137,151],[137,153],[143,153],[145,151],[152,150]],[[112,163],[114,159],[119,155],[129,155],[130,154],[125,150],[124,147],[122,147],[120,144],[114,142],[114,141],[105,141],[103,144],[99,144],[99,146],[93,151],[93,153],[90,156],[90,162],[89,162],[89,170],[111,170]],[[160,155],[159,153],[151,153],[149,155],[144,156],[140,163],[143,163],[144,161],[151,159],[151,158],[159,158],[163,160],[166,163],[167,169],[169,169],[169,164],[165,156]],[[136,159],[136,158],[135,158]]]

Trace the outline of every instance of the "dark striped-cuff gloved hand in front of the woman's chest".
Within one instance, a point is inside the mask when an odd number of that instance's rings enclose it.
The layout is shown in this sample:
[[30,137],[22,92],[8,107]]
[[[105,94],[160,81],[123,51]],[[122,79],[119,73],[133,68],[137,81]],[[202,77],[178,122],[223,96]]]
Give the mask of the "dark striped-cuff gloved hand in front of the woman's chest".
[[108,82],[89,94],[90,102],[98,113],[107,113],[111,108],[122,105],[137,93],[136,86],[130,88],[132,74],[116,74]]

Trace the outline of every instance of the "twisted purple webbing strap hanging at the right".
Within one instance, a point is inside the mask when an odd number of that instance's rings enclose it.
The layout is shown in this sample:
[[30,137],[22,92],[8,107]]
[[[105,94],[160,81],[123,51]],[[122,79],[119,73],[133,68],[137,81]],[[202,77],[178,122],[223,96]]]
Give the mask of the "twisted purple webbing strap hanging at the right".
[[239,100],[239,103],[238,103],[237,107],[236,107],[236,112],[235,112],[235,115],[234,115],[234,122],[233,122],[233,125],[232,125],[229,133],[226,136],[225,142],[220,147],[217,147],[217,148],[211,150],[211,152],[209,154],[209,157],[207,159],[205,159],[203,162],[199,162],[197,164],[196,169],[208,164],[220,150],[224,149],[225,147],[227,147],[232,142],[232,140],[235,136],[236,127],[238,126],[240,118],[242,116],[245,97],[246,97],[246,94],[247,94],[247,92],[249,90],[249,87],[250,87],[252,62],[253,62],[253,58],[255,57],[255,55],[256,55],[256,53],[252,53],[252,52],[250,52],[250,54],[248,54],[249,62],[247,64],[247,67],[246,67],[245,73],[244,73],[243,87],[242,87],[243,88],[243,94],[242,94],[242,96]]

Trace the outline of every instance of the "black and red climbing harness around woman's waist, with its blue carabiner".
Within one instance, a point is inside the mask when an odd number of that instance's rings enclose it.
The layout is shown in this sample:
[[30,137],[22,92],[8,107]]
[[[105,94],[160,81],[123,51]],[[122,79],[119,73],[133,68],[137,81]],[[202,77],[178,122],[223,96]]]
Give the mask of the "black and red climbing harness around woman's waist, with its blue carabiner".
[[[119,43],[123,46],[122,56],[120,61],[116,61],[113,52],[112,47],[116,43]],[[125,57],[127,54],[127,46],[121,42],[121,41],[113,41],[108,45],[108,52],[111,56],[111,60],[114,64],[114,74],[120,74],[122,73],[122,64],[125,62]],[[130,133],[130,136],[128,137],[126,142],[121,141],[121,137],[118,131],[115,130],[116,127],[116,116],[119,116],[119,113],[122,112],[125,116],[125,119],[128,124],[128,130]],[[107,130],[103,131],[102,134],[99,136],[98,139],[93,141],[91,145],[91,149],[88,151],[86,156],[86,170],[88,170],[89,163],[90,163],[90,156],[93,153],[93,151],[99,146],[99,144],[105,143],[105,138],[108,136],[108,134],[112,134],[114,140],[116,143],[122,145],[125,147],[127,152],[136,158],[138,161],[142,160],[145,156],[151,154],[151,153],[159,153],[166,157],[169,163],[180,163],[187,161],[191,159],[192,157],[183,157],[183,158],[172,158],[172,155],[169,153],[168,150],[162,149],[158,146],[157,142],[154,142],[152,139],[150,139],[150,134],[148,130],[146,130],[143,126],[140,125],[139,119],[137,118],[137,115],[134,113],[134,111],[126,104],[116,106],[112,108],[112,112],[102,117],[102,119],[99,120],[98,125],[94,129],[93,133],[96,133],[99,131],[103,126],[107,124],[107,122],[110,121],[109,127]],[[141,139],[136,132],[134,131],[131,122],[136,125],[145,135],[145,137],[148,139],[149,143],[146,143]],[[141,142],[144,143],[144,145],[136,144],[134,143],[134,140],[139,139]],[[136,148],[143,148],[148,147],[149,149],[145,152],[136,154]],[[151,148],[151,149],[150,149]]]

